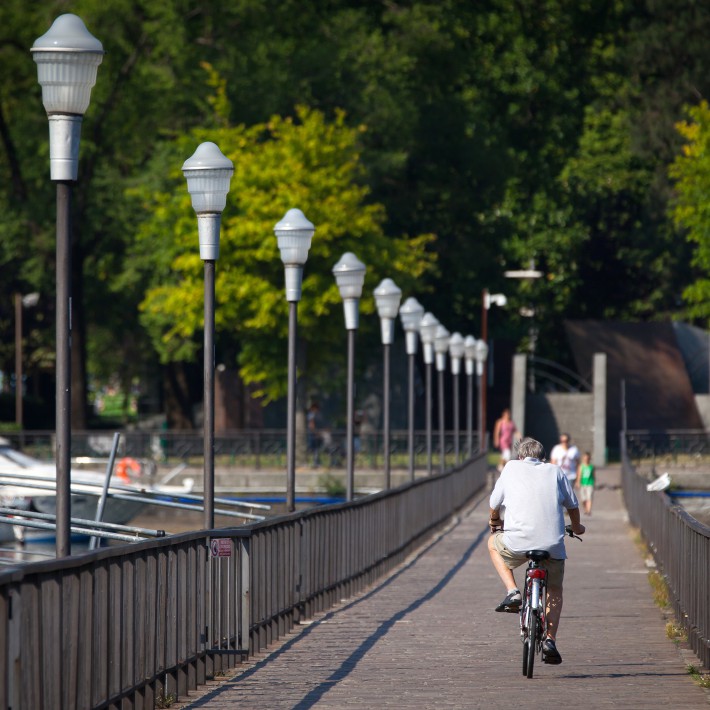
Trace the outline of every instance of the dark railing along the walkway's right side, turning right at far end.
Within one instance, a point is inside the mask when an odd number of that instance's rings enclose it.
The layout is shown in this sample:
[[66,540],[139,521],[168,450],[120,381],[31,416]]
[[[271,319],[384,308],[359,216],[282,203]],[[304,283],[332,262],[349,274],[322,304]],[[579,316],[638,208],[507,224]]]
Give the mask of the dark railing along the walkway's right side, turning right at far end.
[[[633,435],[632,435],[633,434]],[[669,449],[663,450],[666,442]],[[696,453],[707,436],[679,436],[678,432],[652,437],[638,432],[622,433],[624,500],[632,523],[646,539],[663,572],[676,618],[683,624],[688,641],[705,668],[710,667],[710,527],[699,523],[663,492],[646,490],[631,458]]]

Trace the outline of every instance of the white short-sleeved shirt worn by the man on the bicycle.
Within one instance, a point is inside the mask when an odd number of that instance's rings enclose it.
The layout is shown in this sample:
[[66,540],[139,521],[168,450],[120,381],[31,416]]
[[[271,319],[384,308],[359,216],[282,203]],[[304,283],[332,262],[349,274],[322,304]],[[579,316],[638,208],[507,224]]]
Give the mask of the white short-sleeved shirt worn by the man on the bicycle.
[[496,481],[490,506],[505,506],[503,542],[513,552],[547,550],[564,560],[564,508],[578,508],[577,497],[559,466],[538,459],[508,461]]

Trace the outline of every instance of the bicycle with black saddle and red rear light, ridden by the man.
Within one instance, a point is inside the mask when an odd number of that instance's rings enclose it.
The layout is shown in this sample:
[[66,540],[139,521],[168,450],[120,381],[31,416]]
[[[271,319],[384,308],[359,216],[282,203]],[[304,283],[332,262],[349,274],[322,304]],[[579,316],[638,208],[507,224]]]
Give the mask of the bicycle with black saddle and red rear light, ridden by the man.
[[[570,537],[581,540],[567,525],[565,532]],[[520,636],[523,642],[523,675],[532,678],[535,655],[542,651],[547,629],[547,570],[542,563],[549,559],[546,550],[529,550],[525,553],[528,566],[525,570],[523,603],[520,607]]]

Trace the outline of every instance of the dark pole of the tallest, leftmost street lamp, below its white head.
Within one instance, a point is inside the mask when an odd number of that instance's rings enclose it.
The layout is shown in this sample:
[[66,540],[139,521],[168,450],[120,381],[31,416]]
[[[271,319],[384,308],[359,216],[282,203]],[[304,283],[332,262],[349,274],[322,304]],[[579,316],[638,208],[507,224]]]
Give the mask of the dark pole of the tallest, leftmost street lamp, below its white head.
[[71,200],[57,182],[56,429],[57,557],[71,555]]

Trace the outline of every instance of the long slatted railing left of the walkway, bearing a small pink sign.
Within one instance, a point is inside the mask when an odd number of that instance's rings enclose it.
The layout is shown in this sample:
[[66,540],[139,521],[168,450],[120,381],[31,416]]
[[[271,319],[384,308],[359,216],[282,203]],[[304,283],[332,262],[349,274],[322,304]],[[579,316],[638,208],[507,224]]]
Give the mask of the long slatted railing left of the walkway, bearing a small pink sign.
[[484,456],[351,503],[0,572],[0,707],[184,698],[400,563],[486,483]]

